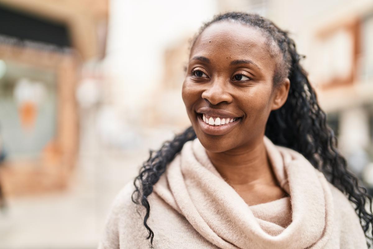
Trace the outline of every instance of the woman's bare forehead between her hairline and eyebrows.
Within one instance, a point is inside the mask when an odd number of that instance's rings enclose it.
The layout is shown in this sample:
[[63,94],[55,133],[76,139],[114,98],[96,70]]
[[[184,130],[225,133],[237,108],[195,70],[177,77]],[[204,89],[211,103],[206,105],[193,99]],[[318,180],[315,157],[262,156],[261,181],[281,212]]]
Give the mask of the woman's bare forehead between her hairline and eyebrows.
[[197,37],[193,56],[250,59],[262,66],[275,63],[270,39],[256,27],[238,22],[222,21],[211,24]]

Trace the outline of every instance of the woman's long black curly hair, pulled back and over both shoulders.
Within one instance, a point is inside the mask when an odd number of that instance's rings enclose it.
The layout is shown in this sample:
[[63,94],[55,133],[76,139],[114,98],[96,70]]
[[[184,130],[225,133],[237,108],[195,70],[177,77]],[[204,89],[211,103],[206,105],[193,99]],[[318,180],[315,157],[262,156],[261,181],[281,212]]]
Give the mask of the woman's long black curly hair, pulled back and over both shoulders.
[[[327,180],[343,192],[353,203],[360,218],[360,224],[370,248],[373,242],[372,197],[366,189],[359,186],[358,179],[347,169],[345,158],[337,150],[337,139],[333,130],[327,126],[326,114],[317,102],[316,93],[307,78],[307,72],[300,65],[304,57],[297,53],[294,40],[288,32],[278,28],[272,21],[257,14],[228,12],[214,16],[201,27],[195,40],[211,24],[220,21],[233,21],[260,29],[267,35],[269,44],[275,43],[282,60],[278,63],[273,77],[276,85],[284,77],[290,80],[288,99],[278,110],[269,115],[265,135],[274,143],[301,153],[311,164],[323,172]],[[144,162],[140,174],[135,178],[135,191],[132,201],[146,209],[144,226],[148,231],[147,239],[153,245],[154,233],[147,224],[150,205],[147,197],[153,192],[153,186],[166,171],[167,164],[179,153],[183,145],[196,137],[192,127],[176,135],[172,141],[166,141],[157,151],[151,151]],[[368,209],[367,209],[368,208]]]

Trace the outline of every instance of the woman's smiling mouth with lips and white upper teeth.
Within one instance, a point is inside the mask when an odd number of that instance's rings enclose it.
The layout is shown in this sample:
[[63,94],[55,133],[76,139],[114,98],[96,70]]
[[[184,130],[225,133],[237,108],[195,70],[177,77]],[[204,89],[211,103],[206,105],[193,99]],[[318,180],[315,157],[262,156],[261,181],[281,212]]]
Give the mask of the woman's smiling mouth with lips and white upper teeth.
[[216,117],[205,113],[197,113],[197,120],[201,130],[210,135],[224,135],[231,131],[241,120],[241,117]]

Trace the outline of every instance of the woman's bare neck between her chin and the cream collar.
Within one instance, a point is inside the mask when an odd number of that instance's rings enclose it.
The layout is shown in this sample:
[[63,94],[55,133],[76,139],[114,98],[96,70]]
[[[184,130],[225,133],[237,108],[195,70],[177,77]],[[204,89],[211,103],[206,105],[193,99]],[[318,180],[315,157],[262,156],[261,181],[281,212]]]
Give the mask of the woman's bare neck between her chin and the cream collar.
[[263,138],[249,146],[225,152],[206,152],[217,171],[231,186],[276,185]]

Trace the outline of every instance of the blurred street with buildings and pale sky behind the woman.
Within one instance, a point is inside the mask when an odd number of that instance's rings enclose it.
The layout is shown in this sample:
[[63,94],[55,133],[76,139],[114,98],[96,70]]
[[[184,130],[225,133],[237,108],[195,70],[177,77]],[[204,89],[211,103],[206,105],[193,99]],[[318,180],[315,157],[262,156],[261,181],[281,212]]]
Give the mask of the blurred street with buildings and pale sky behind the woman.
[[96,248],[148,149],[189,126],[189,40],[229,10],[291,32],[373,189],[372,0],[0,0],[0,249]]

